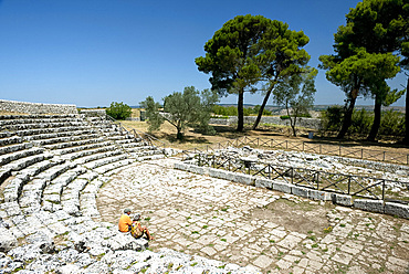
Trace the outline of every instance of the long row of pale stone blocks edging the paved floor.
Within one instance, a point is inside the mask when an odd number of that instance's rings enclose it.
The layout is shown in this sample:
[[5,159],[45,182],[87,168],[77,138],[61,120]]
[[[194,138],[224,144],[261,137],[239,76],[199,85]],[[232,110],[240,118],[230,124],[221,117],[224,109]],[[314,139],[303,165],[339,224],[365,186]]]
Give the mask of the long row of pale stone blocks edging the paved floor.
[[270,190],[276,190],[284,193],[290,193],[311,200],[318,201],[332,201],[334,204],[339,204],[344,207],[354,207],[356,209],[385,213],[389,215],[397,215],[400,218],[409,219],[409,205],[396,202],[384,202],[381,200],[367,200],[367,199],[355,199],[352,196],[332,193],[315,189],[310,189],[296,185],[291,185],[280,180],[269,180],[255,176],[235,173],[232,171],[227,171],[210,167],[198,167],[193,164],[176,162],[176,169],[206,175],[219,179],[224,179],[229,181],[240,182],[249,186],[254,186],[258,188],[266,188]]

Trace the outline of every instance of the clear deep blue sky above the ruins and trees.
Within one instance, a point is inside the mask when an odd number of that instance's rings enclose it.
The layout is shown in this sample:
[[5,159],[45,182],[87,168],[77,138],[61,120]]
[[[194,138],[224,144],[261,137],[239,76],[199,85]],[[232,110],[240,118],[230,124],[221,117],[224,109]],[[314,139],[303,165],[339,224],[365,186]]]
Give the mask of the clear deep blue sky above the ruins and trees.
[[[191,85],[210,88],[195,59],[224,22],[249,13],[303,30],[316,67],[319,55],[333,53],[333,35],[357,2],[0,0],[0,98],[96,107],[138,105],[149,95],[161,101]],[[403,73],[391,83],[401,84]],[[344,93],[324,71],[316,87],[315,104],[343,104]],[[260,95],[244,97],[247,104],[261,102]],[[237,96],[221,103],[237,103]],[[405,98],[395,105],[403,106]]]

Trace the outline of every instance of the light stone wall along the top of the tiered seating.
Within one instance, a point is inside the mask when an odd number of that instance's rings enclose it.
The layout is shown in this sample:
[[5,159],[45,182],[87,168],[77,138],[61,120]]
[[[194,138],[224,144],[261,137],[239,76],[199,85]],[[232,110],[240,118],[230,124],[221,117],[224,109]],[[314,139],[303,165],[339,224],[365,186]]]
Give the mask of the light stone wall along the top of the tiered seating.
[[24,114],[77,114],[75,105],[27,103],[0,99],[0,110]]

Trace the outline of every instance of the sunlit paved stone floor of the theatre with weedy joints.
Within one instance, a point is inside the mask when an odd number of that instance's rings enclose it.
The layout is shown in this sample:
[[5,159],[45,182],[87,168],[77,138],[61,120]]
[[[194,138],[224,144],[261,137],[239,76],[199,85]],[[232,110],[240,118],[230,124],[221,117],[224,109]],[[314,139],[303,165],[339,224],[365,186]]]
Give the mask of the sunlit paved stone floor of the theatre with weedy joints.
[[315,202],[175,170],[174,159],[135,164],[97,198],[103,221],[143,214],[170,247],[262,273],[409,273],[409,220]]

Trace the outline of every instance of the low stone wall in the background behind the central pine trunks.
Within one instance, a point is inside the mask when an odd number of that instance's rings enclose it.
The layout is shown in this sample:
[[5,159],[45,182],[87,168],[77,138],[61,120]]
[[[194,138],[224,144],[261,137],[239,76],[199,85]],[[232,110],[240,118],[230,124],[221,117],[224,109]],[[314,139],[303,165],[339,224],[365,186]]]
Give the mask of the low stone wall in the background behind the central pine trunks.
[[[244,124],[254,124],[256,119],[256,116],[244,116]],[[229,118],[211,118],[209,124],[214,125],[233,125],[238,123],[238,117],[230,116]],[[281,119],[280,117],[273,117],[273,116],[263,116],[260,120],[261,124],[275,124],[275,125],[282,125],[282,126],[290,126],[290,119]],[[321,129],[322,124],[321,119],[317,118],[303,118],[300,117],[296,120],[297,127],[305,127],[311,129]]]

